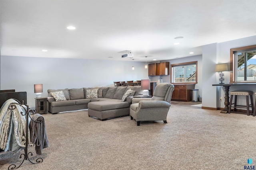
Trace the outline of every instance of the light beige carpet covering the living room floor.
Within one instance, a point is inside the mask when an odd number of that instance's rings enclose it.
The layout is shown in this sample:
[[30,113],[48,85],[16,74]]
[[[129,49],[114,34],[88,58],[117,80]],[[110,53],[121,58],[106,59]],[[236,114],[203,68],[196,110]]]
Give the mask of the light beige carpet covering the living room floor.
[[[42,163],[25,160],[20,170],[242,170],[248,158],[256,165],[251,115],[172,104],[168,123],[140,126],[129,116],[99,121],[87,111],[43,116],[50,147]],[[1,154],[0,169],[18,165],[19,155]]]

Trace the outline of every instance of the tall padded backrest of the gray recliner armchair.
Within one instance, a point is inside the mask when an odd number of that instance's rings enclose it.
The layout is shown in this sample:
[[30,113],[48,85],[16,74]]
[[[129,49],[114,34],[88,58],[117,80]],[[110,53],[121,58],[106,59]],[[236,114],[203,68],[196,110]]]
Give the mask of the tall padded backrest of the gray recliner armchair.
[[151,100],[164,100],[171,102],[174,85],[170,83],[160,83],[156,86]]

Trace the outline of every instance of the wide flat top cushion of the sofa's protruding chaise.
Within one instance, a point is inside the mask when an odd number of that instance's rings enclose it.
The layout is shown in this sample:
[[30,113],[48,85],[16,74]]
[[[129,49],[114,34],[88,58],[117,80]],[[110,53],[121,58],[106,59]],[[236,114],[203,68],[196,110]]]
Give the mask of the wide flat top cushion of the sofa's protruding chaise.
[[113,109],[122,109],[129,107],[128,102],[113,102],[113,101],[102,101],[102,102],[90,102],[88,103],[88,109],[97,111],[106,111]]

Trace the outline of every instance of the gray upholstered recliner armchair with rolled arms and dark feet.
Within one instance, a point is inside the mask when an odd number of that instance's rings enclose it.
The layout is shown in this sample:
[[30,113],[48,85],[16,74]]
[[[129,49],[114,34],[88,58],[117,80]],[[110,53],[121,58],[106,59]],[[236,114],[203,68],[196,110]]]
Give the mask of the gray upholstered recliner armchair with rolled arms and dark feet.
[[130,106],[131,120],[135,119],[137,126],[140,125],[140,121],[162,120],[167,123],[173,90],[173,84],[160,83],[156,86],[152,98],[133,98]]

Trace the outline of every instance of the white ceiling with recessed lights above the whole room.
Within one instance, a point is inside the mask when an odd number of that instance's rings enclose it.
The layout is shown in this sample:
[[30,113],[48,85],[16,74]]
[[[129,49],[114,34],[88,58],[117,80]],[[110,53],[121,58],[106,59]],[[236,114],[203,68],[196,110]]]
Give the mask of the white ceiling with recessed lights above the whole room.
[[201,55],[202,45],[256,35],[255,11],[256,0],[0,0],[0,52],[130,61],[118,53],[130,50],[148,62]]

